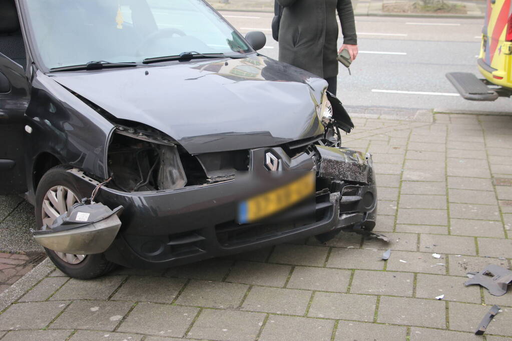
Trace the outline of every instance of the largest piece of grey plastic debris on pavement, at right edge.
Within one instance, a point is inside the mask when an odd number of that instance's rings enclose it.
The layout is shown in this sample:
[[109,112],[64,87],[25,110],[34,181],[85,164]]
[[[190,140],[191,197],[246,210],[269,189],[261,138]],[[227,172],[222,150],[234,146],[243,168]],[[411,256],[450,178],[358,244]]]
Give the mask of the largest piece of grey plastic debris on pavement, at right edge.
[[507,292],[507,285],[512,283],[512,271],[504,267],[489,264],[484,270],[468,272],[473,277],[464,283],[465,286],[478,284],[489,290],[490,295],[502,296]]

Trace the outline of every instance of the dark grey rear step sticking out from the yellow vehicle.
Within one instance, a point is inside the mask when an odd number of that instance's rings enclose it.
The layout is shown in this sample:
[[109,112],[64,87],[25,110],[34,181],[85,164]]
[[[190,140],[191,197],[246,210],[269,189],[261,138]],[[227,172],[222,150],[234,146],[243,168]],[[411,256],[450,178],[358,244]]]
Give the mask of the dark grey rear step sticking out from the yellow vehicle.
[[496,101],[499,94],[469,72],[450,72],[446,78],[460,95],[470,101]]

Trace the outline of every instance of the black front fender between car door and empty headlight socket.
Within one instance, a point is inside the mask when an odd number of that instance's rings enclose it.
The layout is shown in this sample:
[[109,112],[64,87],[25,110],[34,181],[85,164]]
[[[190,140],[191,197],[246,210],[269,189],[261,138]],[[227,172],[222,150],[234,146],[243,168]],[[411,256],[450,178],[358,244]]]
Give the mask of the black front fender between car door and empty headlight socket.
[[108,177],[106,148],[114,126],[42,72],[32,82],[26,115],[33,131],[29,164],[48,152],[100,179]]

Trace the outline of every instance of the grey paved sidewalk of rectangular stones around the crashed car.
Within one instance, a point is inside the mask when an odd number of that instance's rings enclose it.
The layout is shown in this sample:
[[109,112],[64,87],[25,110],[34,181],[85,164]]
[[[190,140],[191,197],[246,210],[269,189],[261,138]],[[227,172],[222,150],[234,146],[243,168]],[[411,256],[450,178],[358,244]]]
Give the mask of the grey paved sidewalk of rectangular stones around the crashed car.
[[512,293],[463,286],[467,271],[511,265],[512,117],[354,123],[346,145],[374,155],[389,245],[342,234],[92,281],[54,270],[2,311],[0,338],[472,340],[492,304],[485,339],[512,337]]

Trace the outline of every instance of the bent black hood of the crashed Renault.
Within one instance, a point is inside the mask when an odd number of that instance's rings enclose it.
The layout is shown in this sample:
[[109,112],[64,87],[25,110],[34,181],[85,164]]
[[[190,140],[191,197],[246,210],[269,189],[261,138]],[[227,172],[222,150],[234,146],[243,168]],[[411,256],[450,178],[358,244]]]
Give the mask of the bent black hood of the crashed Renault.
[[327,83],[255,54],[49,76],[119,119],[164,132],[191,154],[323,133],[316,110]]

